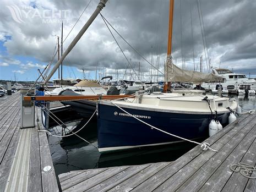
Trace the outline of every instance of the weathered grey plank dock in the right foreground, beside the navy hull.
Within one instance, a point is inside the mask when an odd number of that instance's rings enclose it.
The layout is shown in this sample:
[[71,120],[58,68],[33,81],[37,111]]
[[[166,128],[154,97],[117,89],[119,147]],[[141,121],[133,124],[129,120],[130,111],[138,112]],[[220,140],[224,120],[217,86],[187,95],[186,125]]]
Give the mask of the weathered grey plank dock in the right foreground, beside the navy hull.
[[[256,179],[230,169],[256,164],[256,116],[245,114],[174,162],[72,171],[60,174],[62,191],[256,191]],[[254,171],[251,177],[255,177]]]

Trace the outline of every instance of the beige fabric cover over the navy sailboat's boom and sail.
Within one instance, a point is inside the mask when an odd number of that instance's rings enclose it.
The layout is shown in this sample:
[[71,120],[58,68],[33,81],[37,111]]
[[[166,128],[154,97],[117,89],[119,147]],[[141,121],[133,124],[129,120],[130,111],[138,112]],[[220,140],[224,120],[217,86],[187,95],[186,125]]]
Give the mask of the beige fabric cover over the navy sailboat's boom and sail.
[[195,72],[194,70],[182,70],[167,59],[165,67],[165,79],[171,82],[203,83],[208,81],[221,81],[221,76]]

